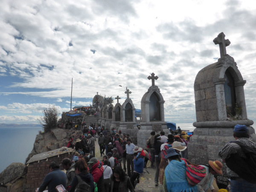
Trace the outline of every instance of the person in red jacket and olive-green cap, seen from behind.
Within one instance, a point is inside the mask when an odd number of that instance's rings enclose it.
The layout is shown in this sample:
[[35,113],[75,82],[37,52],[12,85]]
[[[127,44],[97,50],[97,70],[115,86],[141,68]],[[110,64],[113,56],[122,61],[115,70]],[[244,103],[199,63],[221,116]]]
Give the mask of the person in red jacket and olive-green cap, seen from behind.
[[98,191],[105,192],[102,164],[99,163],[96,157],[91,158],[88,164],[90,165],[90,173],[93,175],[93,181],[97,184]]

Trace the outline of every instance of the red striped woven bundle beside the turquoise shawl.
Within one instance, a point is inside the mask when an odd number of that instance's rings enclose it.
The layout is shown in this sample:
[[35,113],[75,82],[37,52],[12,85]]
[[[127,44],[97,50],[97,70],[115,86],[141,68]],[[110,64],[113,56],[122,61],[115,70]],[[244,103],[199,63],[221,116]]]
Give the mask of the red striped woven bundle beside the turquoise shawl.
[[188,164],[187,161],[185,161],[185,163],[186,163],[186,178],[188,180],[188,183],[191,186],[195,186],[202,179],[204,179],[206,175],[206,169],[203,166]]

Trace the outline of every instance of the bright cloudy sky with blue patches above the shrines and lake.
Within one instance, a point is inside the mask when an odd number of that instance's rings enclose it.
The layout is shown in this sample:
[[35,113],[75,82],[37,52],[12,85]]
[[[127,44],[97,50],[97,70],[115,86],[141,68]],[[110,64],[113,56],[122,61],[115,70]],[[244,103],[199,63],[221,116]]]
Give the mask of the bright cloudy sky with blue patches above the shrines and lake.
[[[0,123],[38,123],[42,111],[99,95],[135,108],[155,81],[165,120],[195,122],[197,73],[220,57],[224,32],[256,120],[256,6],[251,0],[1,0]],[[122,87],[120,87],[121,85]],[[114,99],[113,105],[116,104]]]

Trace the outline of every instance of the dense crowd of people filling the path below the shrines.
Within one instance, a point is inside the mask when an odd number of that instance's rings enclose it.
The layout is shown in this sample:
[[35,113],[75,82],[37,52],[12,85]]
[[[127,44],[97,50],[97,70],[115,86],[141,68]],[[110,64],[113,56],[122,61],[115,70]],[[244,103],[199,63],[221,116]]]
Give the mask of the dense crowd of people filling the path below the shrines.
[[[256,151],[256,143],[248,139],[248,128],[245,125],[236,125],[233,133],[237,142],[227,143],[219,152],[222,162],[227,163],[231,192],[255,192],[256,173],[246,169],[245,151],[247,148]],[[167,137],[163,131],[160,134],[152,131],[146,141],[147,147],[143,149],[134,145],[129,134],[123,134],[115,128],[111,131],[107,131],[104,126],[86,128],[75,144],[73,138],[70,138],[67,145],[75,148],[76,152],[72,159],[62,160],[61,168],[66,170],[66,175],[60,171],[59,165],[51,163],[50,173],[38,192],[43,192],[46,186],[49,192],[55,192],[55,186],[60,184],[68,192],[74,192],[82,186],[91,192],[133,192],[146,167],[155,169],[154,184],[163,185],[165,192],[206,192],[208,189],[217,192],[213,182],[216,175],[222,175],[223,165],[218,160],[209,160],[206,165],[190,163],[187,160],[190,137],[180,129],[170,132]],[[100,156],[103,156],[102,160],[95,157],[96,143],[99,145]],[[236,163],[242,160],[243,166],[237,166]],[[191,172],[188,168],[191,167],[201,171],[201,179],[197,175],[198,181],[195,184],[192,184],[192,181],[195,182],[192,174],[188,180]],[[225,190],[230,189],[221,189],[222,192]]]

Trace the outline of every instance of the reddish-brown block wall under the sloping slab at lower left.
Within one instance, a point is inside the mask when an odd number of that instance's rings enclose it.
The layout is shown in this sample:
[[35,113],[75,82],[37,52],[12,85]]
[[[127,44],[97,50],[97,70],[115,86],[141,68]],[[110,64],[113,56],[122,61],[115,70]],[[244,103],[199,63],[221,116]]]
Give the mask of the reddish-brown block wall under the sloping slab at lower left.
[[23,185],[23,192],[35,192],[41,183],[43,183],[44,177],[49,173],[49,165],[52,161],[57,161],[61,164],[61,161],[68,157],[72,158],[73,154],[64,153],[49,157],[48,159],[40,160],[29,163],[27,172],[27,182]]

